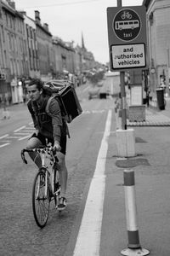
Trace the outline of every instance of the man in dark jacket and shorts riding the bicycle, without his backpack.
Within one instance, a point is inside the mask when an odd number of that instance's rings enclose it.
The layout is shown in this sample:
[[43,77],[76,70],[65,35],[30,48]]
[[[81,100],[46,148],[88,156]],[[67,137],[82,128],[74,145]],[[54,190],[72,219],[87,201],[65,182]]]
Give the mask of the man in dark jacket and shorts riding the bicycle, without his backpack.
[[[62,119],[59,102],[54,98],[49,103],[47,113],[46,106],[50,96],[45,93],[40,79],[31,80],[27,90],[30,97],[27,107],[31,113],[36,132],[29,138],[26,148],[38,148],[52,143],[56,149],[59,159],[59,183],[61,185],[58,209],[61,211],[66,207],[67,168],[65,166],[65,153],[67,125],[65,120]],[[40,155],[36,152],[30,152],[29,155],[37,167],[41,168]]]

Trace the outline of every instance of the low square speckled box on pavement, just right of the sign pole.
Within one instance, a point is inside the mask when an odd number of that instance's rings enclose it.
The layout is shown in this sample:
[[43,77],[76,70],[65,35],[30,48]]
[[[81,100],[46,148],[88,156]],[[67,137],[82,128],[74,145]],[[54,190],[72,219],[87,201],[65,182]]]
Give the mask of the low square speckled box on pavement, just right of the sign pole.
[[130,122],[143,122],[145,121],[145,105],[129,106],[128,119]]

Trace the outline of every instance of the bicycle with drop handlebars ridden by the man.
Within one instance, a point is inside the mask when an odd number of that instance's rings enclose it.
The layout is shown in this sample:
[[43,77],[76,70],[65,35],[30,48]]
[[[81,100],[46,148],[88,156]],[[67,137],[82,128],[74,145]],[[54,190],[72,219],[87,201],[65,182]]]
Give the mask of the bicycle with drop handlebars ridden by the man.
[[51,146],[32,149],[24,148],[21,150],[21,158],[25,164],[27,164],[26,152],[37,152],[42,158],[42,167],[37,172],[32,187],[32,210],[37,226],[43,228],[48,221],[50,202],[54,200],[56,209],[59,203],[59,160]]

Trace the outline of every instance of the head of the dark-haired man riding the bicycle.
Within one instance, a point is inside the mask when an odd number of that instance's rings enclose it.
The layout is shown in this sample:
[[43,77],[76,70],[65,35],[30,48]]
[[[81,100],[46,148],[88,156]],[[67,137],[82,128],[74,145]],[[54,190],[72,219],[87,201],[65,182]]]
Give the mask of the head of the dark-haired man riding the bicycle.
[[37,102],[41,99],[42,96],[42,81],[40,79],[33,79],[28,84],[28,95],[31,101]]

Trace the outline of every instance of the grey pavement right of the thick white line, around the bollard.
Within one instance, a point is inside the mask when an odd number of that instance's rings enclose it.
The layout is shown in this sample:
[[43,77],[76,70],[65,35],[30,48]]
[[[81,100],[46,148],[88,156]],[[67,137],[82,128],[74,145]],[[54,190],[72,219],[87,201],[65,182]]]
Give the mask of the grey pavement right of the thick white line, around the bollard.
[[144,122],[127,120],[127,129],[133,126],[135,134],[134,157],[117,155],[116,125],[112,125],[105,170],[100,256],[118,256],[128,247],[127,226],[130,224],[127,224],[127,194],[123,188],[125,170],[134,171],[135,203],[131,207],[136,207],[137,213],[129,222],[133,226],[136,220],[141,246],[139,252],[131,250],[126,255],[148,255],[143,254],[144,249],[154,256],[170,255],[170,98],[166,101],[165,110],[146,108]]

